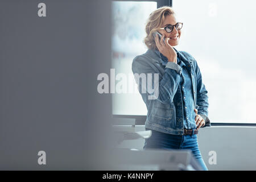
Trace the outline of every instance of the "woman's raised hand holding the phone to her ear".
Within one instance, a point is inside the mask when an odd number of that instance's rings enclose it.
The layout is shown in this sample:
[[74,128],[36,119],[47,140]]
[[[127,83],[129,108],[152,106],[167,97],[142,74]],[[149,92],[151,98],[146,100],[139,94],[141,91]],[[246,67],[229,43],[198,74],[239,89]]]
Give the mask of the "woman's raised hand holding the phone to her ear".
[[[160,39],[160,40],[159,40]],[[177,64],[177,53],[175,52],[174,48],[168,43],[170,38],[166,38],[163,41],[164,35],[160,38],[158,34],[155,36],[155,44],[158,48],[159,52],[161,52],[164,56],[167,57],[168,61],[174,62]]]

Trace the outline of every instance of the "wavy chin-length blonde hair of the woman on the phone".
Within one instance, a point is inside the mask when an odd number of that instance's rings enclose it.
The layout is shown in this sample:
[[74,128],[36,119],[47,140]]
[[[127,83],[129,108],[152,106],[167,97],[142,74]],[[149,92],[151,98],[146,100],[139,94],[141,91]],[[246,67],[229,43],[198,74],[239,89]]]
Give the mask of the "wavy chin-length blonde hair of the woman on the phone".
[[148,49],[158,49],[155,45],[155,38],[152,35],[153,32],[157,31],[158,28],[161,28],[164,23],[166,16],[175,14],[174,10],[170,6],[162,6],[153,11],[146,24],[146,33],[147,36],[144,38],[144,44],[146,44]]

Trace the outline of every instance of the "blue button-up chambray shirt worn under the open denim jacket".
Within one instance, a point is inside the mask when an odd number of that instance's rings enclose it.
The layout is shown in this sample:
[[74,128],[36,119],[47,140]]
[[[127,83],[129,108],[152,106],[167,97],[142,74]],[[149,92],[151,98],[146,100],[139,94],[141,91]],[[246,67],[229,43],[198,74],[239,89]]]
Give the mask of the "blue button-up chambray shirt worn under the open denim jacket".
[[[185,63],[180,59],[179,52],[175,49],[177,53],[177,64],[183,68],[181,71],[181,78],[180,78],[180,88],[182,90],[181,96],[183,98],[183,124],[184,129],[196,129],[195,123],[195,111],[194,109],[194,99],[193,99],[193,88],[192,88],[192,80],[191,76],[189,76],[189,73],[187,71],[187,68],[185,67]],[[158,50],[155,50],[155,52],[159,55],[163,61],[164,64],[168,63],[168,59],[166,56],[164,56],[162,53],[160,53]],[[176,118],[178,119],[178,118]]]

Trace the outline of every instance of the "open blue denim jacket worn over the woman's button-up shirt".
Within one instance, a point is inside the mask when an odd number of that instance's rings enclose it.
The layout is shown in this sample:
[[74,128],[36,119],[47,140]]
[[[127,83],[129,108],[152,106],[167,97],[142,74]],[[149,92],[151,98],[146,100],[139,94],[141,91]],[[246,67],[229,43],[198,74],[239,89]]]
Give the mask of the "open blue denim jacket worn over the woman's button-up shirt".
[[[208,96],[205,85],[202,81],[200,69],[196,60],[185,51],[177,51],[179,58],[185,63],[185,67],[189,75],[191,75],[193,100],[195,109],[199,115],[205,120],[205,126],[210,126],[208,118]],[[138,85],[139,93],[147,106],[147,119],[145,123],[146,129],[156,130],[163,133],[173,135],[183,135],[184,118],[183,118],[183,98],[180,88],[180,79],[182,68],[173,62],[164,62],[160,54],[156,51],[148,49],[146,53],[136,56],[132,63],[132,71],[138,73],[135,80]],[[146,77],[146,84],[143,84],[140,78],[143,74],[152,75]],[[158,79],[154,74],[158,73]],[[139,76],[139,77],[138,77]],[[158,86],[158,94],[152,96],[152,91]],[[146,92],[143,92],[146,90]],[[151,96],[151,97],[149,97]],[[191,112],[194,112],[191,110]],[[192,126],[195,126],[195,118]],[[204,126],[204,127],[205,127]]]

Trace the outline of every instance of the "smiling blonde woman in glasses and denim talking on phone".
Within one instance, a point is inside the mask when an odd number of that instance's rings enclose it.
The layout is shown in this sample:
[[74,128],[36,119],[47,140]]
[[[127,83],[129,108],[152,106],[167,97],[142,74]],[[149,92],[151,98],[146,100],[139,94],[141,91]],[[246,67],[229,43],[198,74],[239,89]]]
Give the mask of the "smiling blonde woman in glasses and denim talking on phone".
[[[148,50],[133,60],[135,80],[147,106],[145,127],[152,130],[144,149],[191,150],[201,168],[208,170],[197,143],[200,127],[210,126],[208,92],[196,60],[189,53],[173,47],[179,43],[182,27],[183,23],[176,21],[171,7],[156,9],[146,24],[144,43]],[[156,31],[163,35],[162,38],[154,37]],[[155,79],[155,73],[158,79]],[[143,74],[152,75],[146,77],[146,84],[139,79]],[[150,86],[155,92],[157,90],[155,97],[148,97],[152,96]]]

